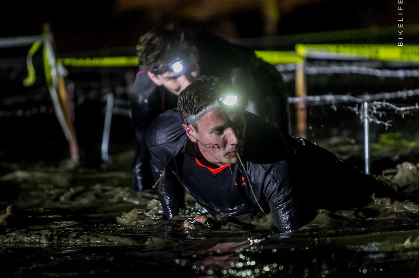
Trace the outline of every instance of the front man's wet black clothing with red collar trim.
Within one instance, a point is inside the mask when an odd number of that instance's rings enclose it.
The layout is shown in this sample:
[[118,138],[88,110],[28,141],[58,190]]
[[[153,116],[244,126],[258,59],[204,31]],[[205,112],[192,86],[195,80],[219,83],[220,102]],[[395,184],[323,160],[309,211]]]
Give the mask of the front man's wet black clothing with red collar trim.
[[184,189],[210,213],[226,219],[248,222],[262,210],[271,212],[282,232],[306,224],[318,208],[349,209],[372,200],[378,185],[373,177],[310,141],[283,135],[254,114],[244,116],[243,165],[219,172],[199,165],[197,146],[176,110],[150,125],[146,142],[155,180],[165,173],[158,194],[166,217],[185,206]]

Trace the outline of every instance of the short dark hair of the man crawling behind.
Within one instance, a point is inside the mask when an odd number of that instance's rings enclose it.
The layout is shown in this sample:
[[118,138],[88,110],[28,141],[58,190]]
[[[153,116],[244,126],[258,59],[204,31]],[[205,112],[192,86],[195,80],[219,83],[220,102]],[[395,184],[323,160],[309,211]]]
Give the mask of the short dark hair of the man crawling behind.
[[169,62],[193,52],[194,46],[185,40],[185,34],[176,27],[155,26],[141,36],[136,46],[138,63],[142,70],[158,70],[164,74]]

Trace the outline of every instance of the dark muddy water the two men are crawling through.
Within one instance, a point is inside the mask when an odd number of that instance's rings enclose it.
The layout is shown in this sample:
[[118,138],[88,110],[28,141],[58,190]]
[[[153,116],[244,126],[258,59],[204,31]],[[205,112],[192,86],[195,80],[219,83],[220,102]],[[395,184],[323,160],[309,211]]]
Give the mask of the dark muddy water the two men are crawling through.
[[[419,166],[400,163],[378,178],[415,194]],[[419,275],[419,205],[410,199],[320,210],[281,234],[263,221],[184,230],[202,208],[189,200],[184,215],[163,219],[157,194],[133,191],[121,167],[9,168],[0,188],[1,277]]]

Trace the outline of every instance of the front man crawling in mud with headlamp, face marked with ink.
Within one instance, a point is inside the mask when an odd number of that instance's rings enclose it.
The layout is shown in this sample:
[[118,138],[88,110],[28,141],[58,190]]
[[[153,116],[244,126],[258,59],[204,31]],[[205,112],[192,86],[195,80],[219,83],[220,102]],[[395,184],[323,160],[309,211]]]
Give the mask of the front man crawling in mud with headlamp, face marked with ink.
[[245,102],[202,76],[180,93],[178,110],[151,124],[146,142],[167,218],[185,207],[186,190],[210,212],[195,217],[208,227],[217,226],[211,215],[250,223],[271,214],[278,231],[291,232],[320,208],[362,207],[391,193],[326,149],[243,111]]

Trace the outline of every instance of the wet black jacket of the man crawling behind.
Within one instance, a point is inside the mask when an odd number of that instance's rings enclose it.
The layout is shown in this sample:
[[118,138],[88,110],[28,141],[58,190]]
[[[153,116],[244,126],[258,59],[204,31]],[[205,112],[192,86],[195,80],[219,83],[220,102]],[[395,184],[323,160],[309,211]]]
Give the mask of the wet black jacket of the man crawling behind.
[[[200,74],[232,82],[249,100],[248,110],[264,117],[284,131],[289,128],[287,93],[281,75],[272,65],[258,59],[254,51],[233,45],[207,32],[186,33],[186,39],[198,49]],[[160,113],[177,107],[177,96],[156,86],[147,73],[137,74],[131,94],[132,122],[136,134],[133,162],[134,188],[150,188],[149,153],[144,134]]]

